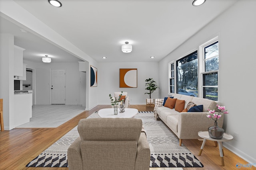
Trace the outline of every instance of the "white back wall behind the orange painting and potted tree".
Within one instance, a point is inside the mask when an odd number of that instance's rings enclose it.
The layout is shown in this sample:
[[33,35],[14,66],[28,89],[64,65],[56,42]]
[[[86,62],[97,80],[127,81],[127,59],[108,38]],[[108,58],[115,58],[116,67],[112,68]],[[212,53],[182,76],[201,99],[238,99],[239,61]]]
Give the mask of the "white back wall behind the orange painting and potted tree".
[[[119,69],[137,68],[137,88],[119,88]],[[158,83],[158,63],[99,63],[98,68],[98,104],[110,104],[109,94],[114,92],[128,92],[130,104],[146,104],[149,98],[145,90],[145,80],[154,78]],[[151,98],[158,98],[158,90]]]

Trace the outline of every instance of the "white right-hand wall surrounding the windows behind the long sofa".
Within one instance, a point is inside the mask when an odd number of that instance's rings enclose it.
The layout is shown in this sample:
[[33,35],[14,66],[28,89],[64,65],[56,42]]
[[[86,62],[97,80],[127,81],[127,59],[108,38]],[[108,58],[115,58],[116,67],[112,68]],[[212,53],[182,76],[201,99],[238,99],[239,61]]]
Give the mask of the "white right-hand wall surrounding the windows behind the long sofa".
[[159,63],[160,96],[165,97],[168,94],[168,63],[219,35],[219,100],[230,112],[225,115],[224,129],[231,135],[238,133],[237,141],[226,142],[224,146],[250,163],[256,163],[255,6],[254,0],[238,1]]

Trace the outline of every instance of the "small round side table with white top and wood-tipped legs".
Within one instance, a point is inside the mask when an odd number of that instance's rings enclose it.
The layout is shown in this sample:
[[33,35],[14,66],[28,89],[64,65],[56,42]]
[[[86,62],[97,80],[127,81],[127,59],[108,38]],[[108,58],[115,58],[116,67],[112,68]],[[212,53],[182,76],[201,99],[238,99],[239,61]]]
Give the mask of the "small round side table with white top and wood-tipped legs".
[[206,143],[206,140],[218,142],[218,143],[219,143],[219,150],[220,150],[221,165],[222,165],[222,166],[225,166],[225,165],[224,165],[224,158],[223,158],[224,153],[223,153],[223,149],[222,149],[222,142],[226,142],[226,141],[232,140],[232,139],[233,139],[233,136],[232,136],[232,135],[229,135],[228,133],[224,133],[222,139],[213,139],[213,138],[211,138],[211,137],[209,136],[208,131],[200,131],[200,132],[198,132],[198,136],[200,136],[201,138],[204,139],[198,156],[200,156],[200,155],[202,154],[202,151],[203,151],[203,149],[204,149],[204,145],[205,145],[205,143]]

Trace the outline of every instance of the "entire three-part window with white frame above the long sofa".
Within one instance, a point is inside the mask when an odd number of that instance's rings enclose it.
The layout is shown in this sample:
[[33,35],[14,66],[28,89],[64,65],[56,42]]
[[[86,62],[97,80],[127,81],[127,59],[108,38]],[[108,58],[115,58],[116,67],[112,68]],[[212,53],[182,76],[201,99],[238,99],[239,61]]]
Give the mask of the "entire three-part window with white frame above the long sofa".
[[218,37],[198,49],[169,63],[169,93],[218,101]]

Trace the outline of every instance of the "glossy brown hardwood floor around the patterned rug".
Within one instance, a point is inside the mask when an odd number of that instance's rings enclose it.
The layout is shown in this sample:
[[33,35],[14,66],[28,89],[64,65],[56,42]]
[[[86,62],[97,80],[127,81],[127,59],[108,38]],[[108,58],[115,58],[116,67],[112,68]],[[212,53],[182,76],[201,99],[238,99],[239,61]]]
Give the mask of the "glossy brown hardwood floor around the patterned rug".
[[[57,128],[12,129],[0,132],[0,170],[68,170],[68,168],[27,168],[26,164],[74,128],[80,119],[88,117],[94,111],[109,107],[111,106],[98,105],[90,111],[84,111]],[[146,107],[146,105],[131,105],[130,108],[136,108],[139,111],[153,111],[154,109],[153,106]],[[235,170],[237,169],[236,163],[248,163],[224,148],[225,166],[223,167],[220,165],[220,153],[218,147],[214,147],[214,142],[206,142],[201,156],[198,156],[198,153],[202,141],[184,139],[182,142],[204,164],[204,168],[183,168],[184,170]],[[150,170],[171,169],[174,168],[150,168]],[[176,168],[175,170],[181,169]],[[256,170],[254,166],[250,169]]]

